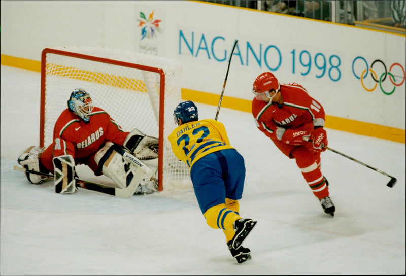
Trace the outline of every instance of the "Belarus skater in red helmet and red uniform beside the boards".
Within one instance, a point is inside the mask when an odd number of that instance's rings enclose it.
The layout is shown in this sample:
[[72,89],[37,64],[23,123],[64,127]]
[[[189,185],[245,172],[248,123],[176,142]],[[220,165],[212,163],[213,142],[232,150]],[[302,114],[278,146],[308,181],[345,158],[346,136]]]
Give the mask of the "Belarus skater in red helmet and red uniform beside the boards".
[[[297,166],[325,213],[335,206],[323,176],[320,153],[327,146],[322,105],[297,83],[280,84],[274,74],[260,74],[253,84],[252,115],[256,126]],[[308,142],[310,139],[313,142]]]

